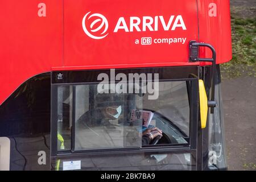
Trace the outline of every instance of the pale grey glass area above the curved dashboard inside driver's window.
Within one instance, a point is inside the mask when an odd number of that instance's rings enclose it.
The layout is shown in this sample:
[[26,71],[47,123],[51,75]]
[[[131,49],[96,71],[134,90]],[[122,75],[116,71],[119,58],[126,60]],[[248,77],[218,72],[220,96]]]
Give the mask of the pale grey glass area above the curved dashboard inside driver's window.
[[189,136],[189,102],[185,81],[159,82],[158,100],[143,97],[143,108],[156,111]]

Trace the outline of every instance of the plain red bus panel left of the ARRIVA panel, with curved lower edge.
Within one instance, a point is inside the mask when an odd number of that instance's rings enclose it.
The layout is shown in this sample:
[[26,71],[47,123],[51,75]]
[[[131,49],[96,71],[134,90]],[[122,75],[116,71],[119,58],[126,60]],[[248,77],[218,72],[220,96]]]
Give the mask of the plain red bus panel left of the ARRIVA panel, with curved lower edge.
[[24,81],[62,64],[63,1],[42,2],[0,2],[0,105]]

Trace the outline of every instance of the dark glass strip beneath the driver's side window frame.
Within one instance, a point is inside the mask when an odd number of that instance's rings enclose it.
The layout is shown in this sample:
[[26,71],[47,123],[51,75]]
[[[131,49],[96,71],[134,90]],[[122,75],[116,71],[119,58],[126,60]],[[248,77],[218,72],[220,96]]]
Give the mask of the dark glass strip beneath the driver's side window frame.
[[[195,170],[196,159],[190,153],[184,154],[116,154],[84,156],[72,159],[52,160],[52,170],[63,170],[63,162],[81,162],[81,169],[93,171],[158,171]],[[59,165],[58,163],[59,162]],[[57,166],[57,167],[56,167]],[[54,168],[53,168],[54,167]]]

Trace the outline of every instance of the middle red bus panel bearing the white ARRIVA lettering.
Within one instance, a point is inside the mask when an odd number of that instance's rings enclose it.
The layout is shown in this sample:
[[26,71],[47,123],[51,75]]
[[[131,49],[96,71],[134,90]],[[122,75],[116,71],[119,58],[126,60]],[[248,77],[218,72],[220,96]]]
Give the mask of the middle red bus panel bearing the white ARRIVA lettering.
[[[197,6],[196,1],[167,1],[167,0],[108,0],[108,1],[83,1],[83,0],[64,0],[64,66],[65,67],[88,67],[97,65],[117,66],[123,65],[130,67],[137,65],[153,64],[152,66],[169,63],[188,63],[188,42],[197,40]],[[99,6],[100,5],[100,6]],[[73,10],[76,10],[74,13]],[[90,13],[89,13],[90,12]],[[108,20],[108,34],[102,39],[93,39],[85,34],[82,28],[82,19],[95,13],[102,14]],[[168,31],[165,31],[159,16],[163,16],[164,24],[168,24],[171,15],[174,20],[170,24]],[[176,27],[171,30],[177,15],[181,15],[186,30],[183,27]],[[130,16],[136,17],[141,23],[138,25],[138,31],[133,28],[131,32]],[[147,22],[154,20],[150,28],[146,27],[143,31],[143,16],[149,16]],[[155,16],[158,16],[157,18]],[[127,25],[125,28],[114,32],[118,19],[123,17]],[[155,18],[158,23],[155,26]],[[88,31],[90,25],[97,18],[91,18],[86,22]],[[137,22],[134,20],[134,22]],[[171,21],[170,21],[171,22]],[[100,24],[99,22],[98,24]],[[180,21],[178,22],[180,23]],[[95,27],[98,26],[95,25]],[[152,29],[151,29],[152,28]],[[150,30],[151,29],[151,30]],[[167,29],[167,28],[166,28]],[[104,31],[104,27],[102,27]],[[129,31],[129,32],[127,32]],[[99,31],[101,32],[101,31]],[[93,32],[90,32],[93,34]],[[103,34],[104,35],[104,34]],[[101,36],[98,34],[98,36]],[[150,45],[142,45],[142,38],[151,38]],[[185,39],[183,43],[154,43],[166,42],[166,40],[175,38]],[[138,40],[138,44],[136,44]]]

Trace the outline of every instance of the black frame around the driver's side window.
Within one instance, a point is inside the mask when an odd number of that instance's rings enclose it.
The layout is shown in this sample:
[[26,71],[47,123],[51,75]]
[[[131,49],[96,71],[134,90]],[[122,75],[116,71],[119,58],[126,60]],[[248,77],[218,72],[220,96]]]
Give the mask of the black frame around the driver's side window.
[[[75,89],[76,85],[84,85],[90,83],[97,83],[97,75],[100,73],[109,73],[110,69],[100,69],[95,71],[65,71],[65,72],[52,72],[51,76],[51,157],[71,157],[71,156],[84,156],[84,155],[107,155],[107,154],[125,154],[138,153],[138,152],[158,152],[159,154],[168,153],[191,153],[196,158],[197,151],[197,134],[199,126],[199,95],[198,95],[198,75],[199,67],[164,67],[164,68],[132,68],[132,69],[115,69],[115,73],[159,73],[159,82],[162,81],[191,81],[187,84],[189,99],[189,143],[188,144],[167,144],[156,146],[143,146],[143,147],[120,147],[120,148],[100,148],[100,149],[87,149],[75,150],[75,119],[72,119],[71,127],[71,150],[58,151],[57,150],[57,87],[72,85]],[[163,74],[165,72],[166,74]],[[61,73],[63,79],[58,80],[57,75]],[[90,76],[82,76],[90,75]],[[193,75],[191,77],[191,75]],[[87,79],[83,79],[83,78]],[[89,78],[89,79],[88,79]],[[188,88],[189,86],[189,88]],[[73,110],[75,110],[75,94],[73,90]],[[75,112],[72,112],[72,118],[75,117]]]

